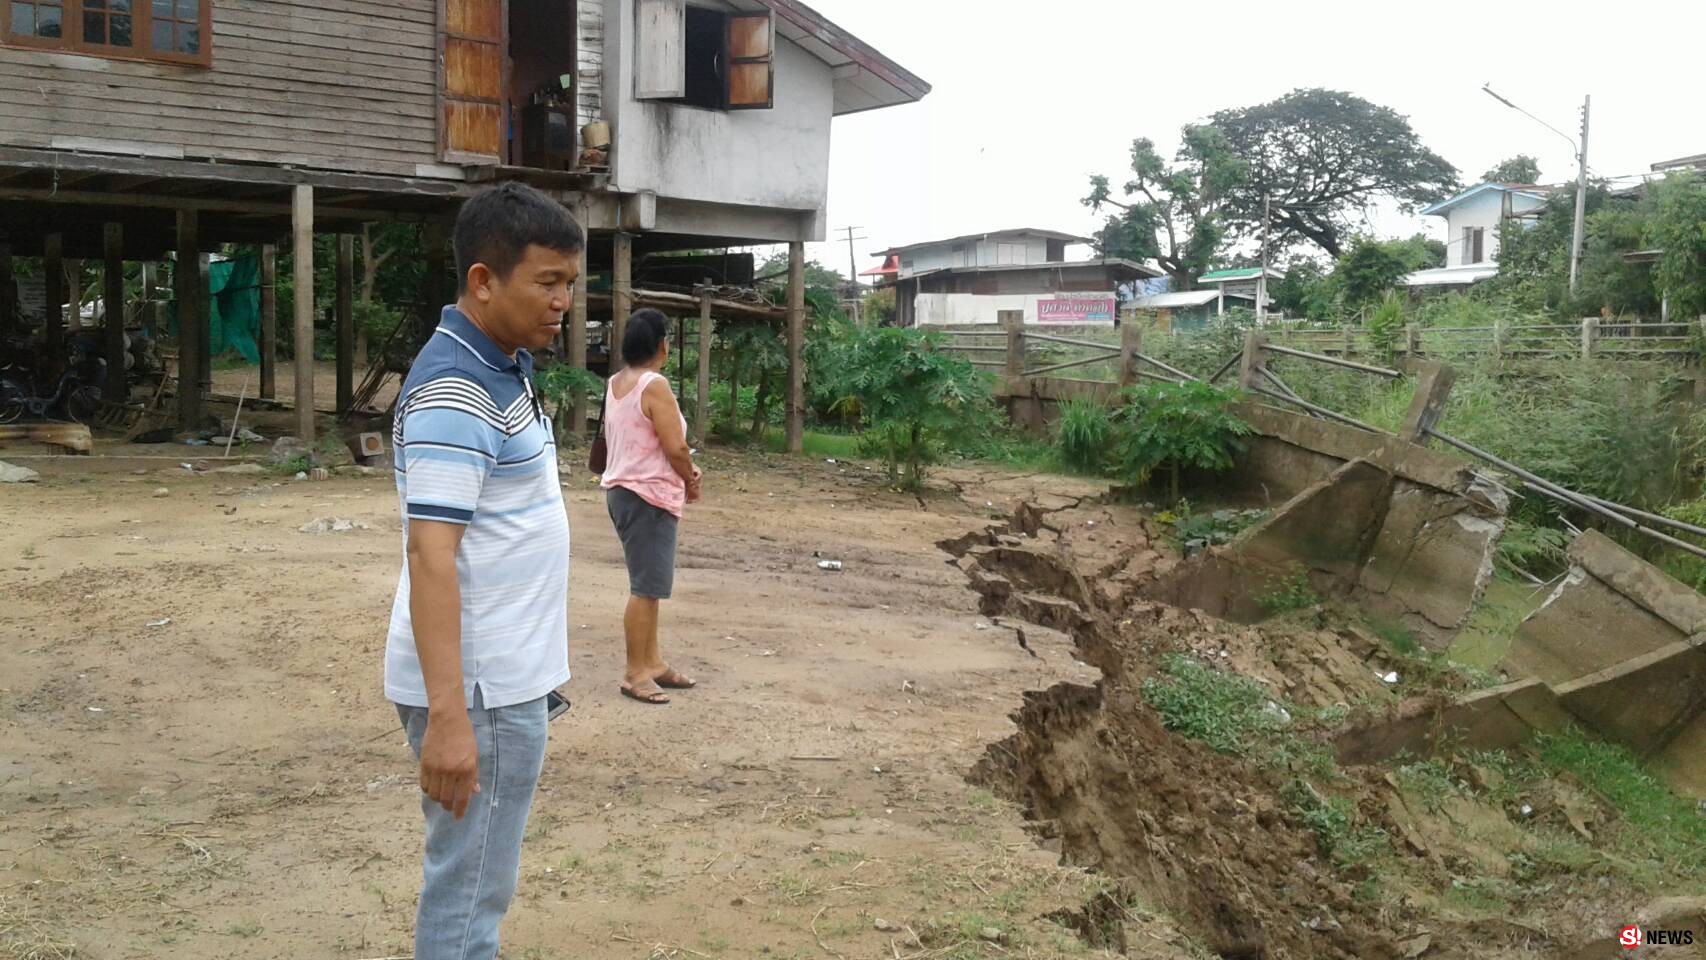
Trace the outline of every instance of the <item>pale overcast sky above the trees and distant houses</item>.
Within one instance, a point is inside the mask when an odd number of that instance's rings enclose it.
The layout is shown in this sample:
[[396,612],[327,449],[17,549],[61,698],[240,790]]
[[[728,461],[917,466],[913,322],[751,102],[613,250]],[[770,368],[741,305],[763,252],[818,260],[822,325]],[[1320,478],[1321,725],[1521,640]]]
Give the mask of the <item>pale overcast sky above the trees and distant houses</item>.
[[[889,246],[981,230],[1088,234],[1099,223],[1078,203],[1088,177],[1124,182],[1133,138],[1170,157],[1181,124],[1295,87],[1397,109],[1469,182],[1513,153],[1537,157],[1546,182],[1575,177],[1575,150],[1483,82],[1571,133],[1592,94],[1595,174],[1706,152],[1697,0],[809,2],[935,87],[920,104],[834,123],[829,228],[868,237],[855,244],[860,269]],[[1440,218],[1373,210],[1368,220],[1384,235],[1445,232]],[[844,242],[807,256],[848,269]]]

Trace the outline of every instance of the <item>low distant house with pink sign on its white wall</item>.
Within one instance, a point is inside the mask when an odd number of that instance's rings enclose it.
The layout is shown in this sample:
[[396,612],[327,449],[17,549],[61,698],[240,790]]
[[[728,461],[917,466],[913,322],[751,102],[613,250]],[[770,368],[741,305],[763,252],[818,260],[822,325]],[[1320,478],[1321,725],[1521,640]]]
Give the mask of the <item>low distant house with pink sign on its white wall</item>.
[[1085,237],[1054,230],[996,230],[879,252],[885,286],[894,286],[897,326],[1112,324],[1119,288],[1160,276],[1128,259],[1068,261]]

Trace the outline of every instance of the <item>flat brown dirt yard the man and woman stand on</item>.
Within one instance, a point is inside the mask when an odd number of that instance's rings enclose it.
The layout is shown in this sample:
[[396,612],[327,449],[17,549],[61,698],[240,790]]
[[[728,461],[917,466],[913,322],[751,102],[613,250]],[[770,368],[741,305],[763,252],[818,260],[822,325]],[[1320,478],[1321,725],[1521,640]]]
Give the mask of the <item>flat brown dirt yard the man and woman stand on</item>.
[[[14,462],[43,477],[0,489],[0,955],[406,957],[389,474]],[[1090,955],[1044,914],[1105,882],[966,774],[1024,691],[1097,672],[1061,634],[991,626],[935,546],[1075,481],[960,472],[920,501],[844,464],[706,471],[665,605],[665,653],[703,685],[665,708],[618,696],[618,544],[592,479],[565,477],[573,709],[503,955]],[[299,530],[331,517],[363,527]],[[1145,919],[1133,953],[1174,955]]]

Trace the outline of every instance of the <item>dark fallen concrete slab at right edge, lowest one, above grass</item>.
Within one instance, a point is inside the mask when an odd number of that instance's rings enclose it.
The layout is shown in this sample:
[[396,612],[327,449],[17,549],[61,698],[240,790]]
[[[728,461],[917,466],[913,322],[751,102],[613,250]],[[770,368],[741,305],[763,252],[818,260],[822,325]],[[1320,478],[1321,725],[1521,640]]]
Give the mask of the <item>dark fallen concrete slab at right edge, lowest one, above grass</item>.
[[1600,737],[1653,755],[1706,703],[1706,648],[1684,639],[1554,689],[1558,703]]

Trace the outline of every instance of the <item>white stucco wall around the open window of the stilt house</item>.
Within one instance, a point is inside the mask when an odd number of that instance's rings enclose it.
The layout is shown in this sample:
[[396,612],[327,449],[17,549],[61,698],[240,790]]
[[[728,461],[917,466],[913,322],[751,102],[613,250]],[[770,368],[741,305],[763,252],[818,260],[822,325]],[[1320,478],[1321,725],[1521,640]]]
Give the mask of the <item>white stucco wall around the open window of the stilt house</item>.
[[[710,111],[635,99],[635,0],[606,0],[602,106],[612,128],[611,186],[653,191],[660,200],[822,210],[831,68],[780,34],[775,68],[773,109]],[[810,228],[821,220],[804,222]]]

